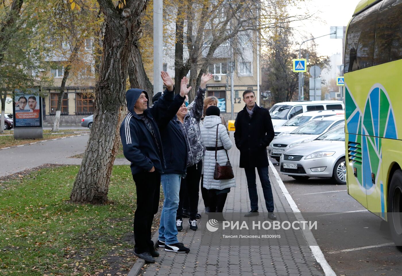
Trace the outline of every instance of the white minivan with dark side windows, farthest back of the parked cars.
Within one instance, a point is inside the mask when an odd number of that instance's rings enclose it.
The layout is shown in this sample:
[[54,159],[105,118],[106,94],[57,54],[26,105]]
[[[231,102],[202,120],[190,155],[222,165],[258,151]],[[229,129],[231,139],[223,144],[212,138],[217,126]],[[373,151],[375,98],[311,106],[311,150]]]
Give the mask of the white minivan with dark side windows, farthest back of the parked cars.
[[345,110],[345,104],[340,100],[278,102],[269,109],[269,114],[275,128],[298,114],[315,110]]

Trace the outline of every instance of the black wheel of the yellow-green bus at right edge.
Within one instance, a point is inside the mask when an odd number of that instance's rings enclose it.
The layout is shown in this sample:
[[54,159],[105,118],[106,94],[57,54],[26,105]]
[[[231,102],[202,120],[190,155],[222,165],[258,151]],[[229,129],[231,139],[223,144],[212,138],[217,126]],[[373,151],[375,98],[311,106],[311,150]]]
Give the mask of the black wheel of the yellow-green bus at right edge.
[[388,192],[388,221],[392,240],[402,251],[402,170],[396,170]]

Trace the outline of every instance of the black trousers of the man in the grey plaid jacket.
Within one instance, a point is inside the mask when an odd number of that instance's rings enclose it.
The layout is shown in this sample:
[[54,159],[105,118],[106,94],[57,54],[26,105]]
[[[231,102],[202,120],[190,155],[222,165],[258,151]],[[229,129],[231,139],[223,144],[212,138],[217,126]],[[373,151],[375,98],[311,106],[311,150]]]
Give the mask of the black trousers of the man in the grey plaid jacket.
[[186,178],[181,179],[176,219],[182,219],[184,202],[185,200],[189,200],[190,220],[195,220],[198,211],[198,193],[201,171],[202,160],[198,162],[198,164],[188,167]]

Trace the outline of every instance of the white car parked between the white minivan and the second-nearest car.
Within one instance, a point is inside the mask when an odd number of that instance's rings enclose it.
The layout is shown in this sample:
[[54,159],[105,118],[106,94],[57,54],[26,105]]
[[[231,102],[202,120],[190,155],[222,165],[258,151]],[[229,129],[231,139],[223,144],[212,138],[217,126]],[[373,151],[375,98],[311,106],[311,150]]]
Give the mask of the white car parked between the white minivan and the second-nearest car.
[[285,133],[291,133],[304,123],[314,120],[314,119],[319,119],[322,117],[328,117],[328,116],[334,116],[334,115],[340,115],[340,114],[345,114],[344,110],[320,110],[320,111],[309,111],[309,112],[304,112],[299,115],[296,115],[292,119],[289,119],[283,126],[274,128],[275,131],[275,137],[277,137],[279,134],[285,132]]

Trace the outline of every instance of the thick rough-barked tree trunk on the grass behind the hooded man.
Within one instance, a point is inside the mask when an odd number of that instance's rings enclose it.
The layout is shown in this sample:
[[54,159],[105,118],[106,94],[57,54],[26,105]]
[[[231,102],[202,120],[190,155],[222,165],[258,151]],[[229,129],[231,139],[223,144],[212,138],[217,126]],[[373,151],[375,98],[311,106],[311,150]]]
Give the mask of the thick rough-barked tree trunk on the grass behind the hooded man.
[[139,16],[147,0],[127,0],[123,10],[116,9],[111,0],[98,0],[98,3],[105,14],[106,27],[95,88],[94,123],[70,195],[70,200],[76,203],[107,202],[120,124],[127,113],[127,68],[131,49],[139,37]]

